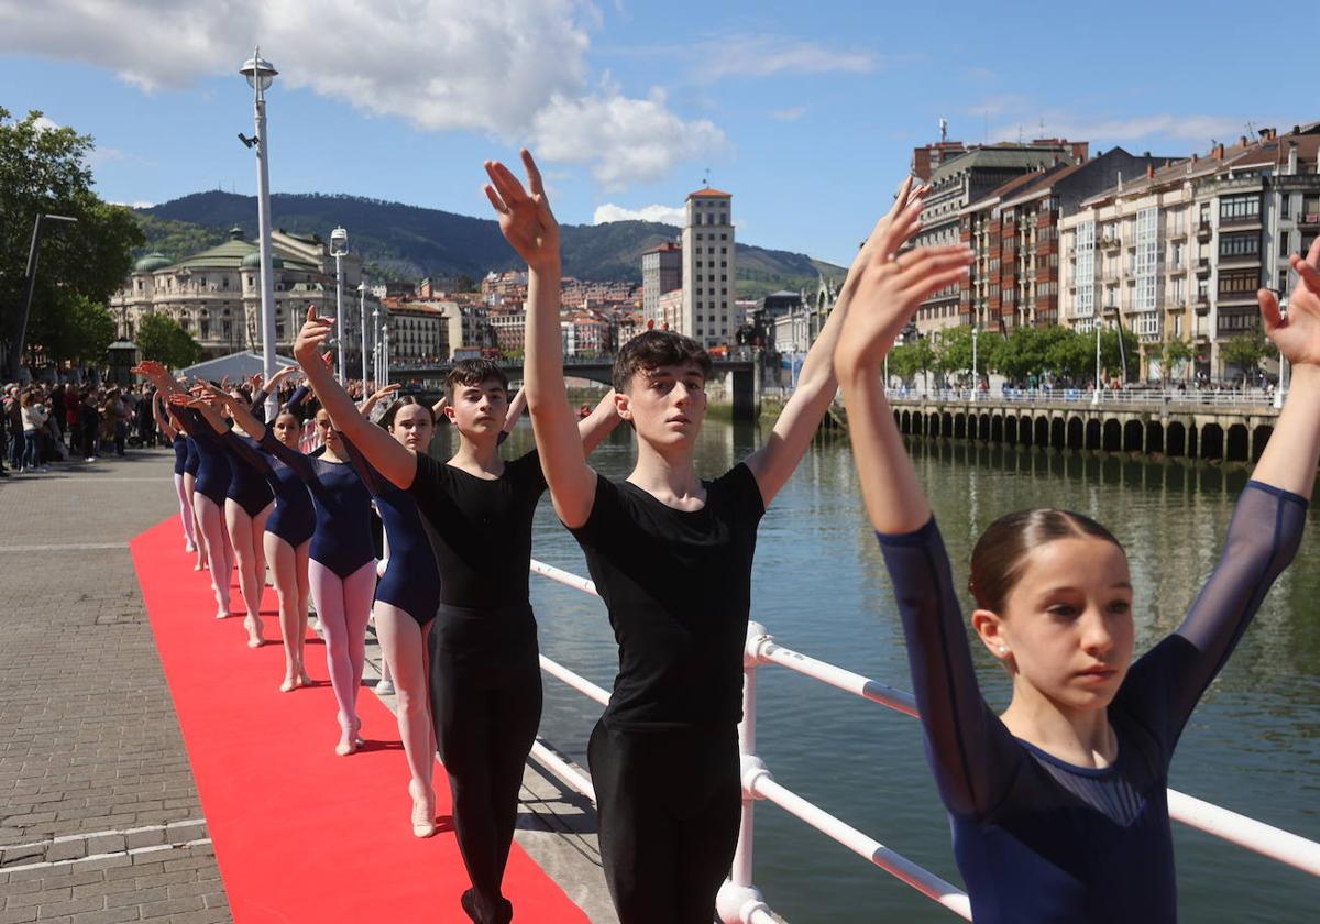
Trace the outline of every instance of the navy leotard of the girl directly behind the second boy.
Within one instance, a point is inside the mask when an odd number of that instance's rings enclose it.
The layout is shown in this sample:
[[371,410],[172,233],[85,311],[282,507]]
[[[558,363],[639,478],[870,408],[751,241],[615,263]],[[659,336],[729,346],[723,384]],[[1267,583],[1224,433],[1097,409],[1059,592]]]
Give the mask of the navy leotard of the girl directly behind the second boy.
[[425,626],[440,606],[440,565],[430,533],[412,496],[381,475],[362,451],[339,434],[348,461],[367,486],[389,540],[385,576],[376,585],[376,599],[397,606]]

